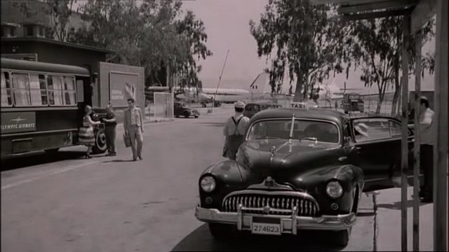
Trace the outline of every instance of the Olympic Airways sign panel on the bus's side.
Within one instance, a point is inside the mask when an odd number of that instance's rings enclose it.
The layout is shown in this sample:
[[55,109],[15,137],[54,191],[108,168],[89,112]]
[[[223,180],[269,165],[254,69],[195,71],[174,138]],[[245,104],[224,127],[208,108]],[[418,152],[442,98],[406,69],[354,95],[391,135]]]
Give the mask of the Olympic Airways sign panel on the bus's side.
[[36,131],[35,112],[1,113],[1,134]]

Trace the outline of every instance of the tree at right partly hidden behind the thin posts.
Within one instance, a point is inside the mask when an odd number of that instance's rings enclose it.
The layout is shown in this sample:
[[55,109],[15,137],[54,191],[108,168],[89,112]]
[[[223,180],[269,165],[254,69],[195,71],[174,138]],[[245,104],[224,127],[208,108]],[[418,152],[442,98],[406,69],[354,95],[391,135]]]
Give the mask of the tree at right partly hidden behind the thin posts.
[[[433,36],[434,22],[429,22],[422,28],[423,41]],[[361,80],[366,87],[377,86],[378,99],[375,113],[380,113],[387,87],[394,87],[394,97],[391,106],[391,116],[396,116],[398,98],[401,90],[400,70],[403,50],[403,18],[389,17],[373,20],[358,20],[349,25],[352,36],[349,53],[356,66],[361,66]],[[415,39],[408,39],[410,55],[410,74],[415,73]],[[433,55],[422,59],[422,72],[433,71]],[[408,78],[408,76],[407,76]]]

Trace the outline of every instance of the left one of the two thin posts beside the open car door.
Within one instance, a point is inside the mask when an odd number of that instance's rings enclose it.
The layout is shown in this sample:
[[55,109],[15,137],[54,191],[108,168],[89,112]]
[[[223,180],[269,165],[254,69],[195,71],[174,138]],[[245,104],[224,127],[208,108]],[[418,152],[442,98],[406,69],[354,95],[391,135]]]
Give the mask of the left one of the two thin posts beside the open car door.
[[407,170],[408,170],[408,36],[410,16],[403,16],[402,49],[402,141],[401,141],[401,251],[407,251]]

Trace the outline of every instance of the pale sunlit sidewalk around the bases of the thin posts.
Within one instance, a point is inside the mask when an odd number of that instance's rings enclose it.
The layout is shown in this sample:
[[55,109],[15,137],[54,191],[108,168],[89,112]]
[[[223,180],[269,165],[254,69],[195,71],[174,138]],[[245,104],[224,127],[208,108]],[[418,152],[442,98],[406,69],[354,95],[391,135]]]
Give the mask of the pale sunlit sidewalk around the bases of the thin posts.
[[[377,207],[377,251],[401,251],[401,188],[379,190],[375,195]],[[413,187],[408,188],[407,242],[413,251]],[[434,204],[420,204],[420,251],[434,249]]]

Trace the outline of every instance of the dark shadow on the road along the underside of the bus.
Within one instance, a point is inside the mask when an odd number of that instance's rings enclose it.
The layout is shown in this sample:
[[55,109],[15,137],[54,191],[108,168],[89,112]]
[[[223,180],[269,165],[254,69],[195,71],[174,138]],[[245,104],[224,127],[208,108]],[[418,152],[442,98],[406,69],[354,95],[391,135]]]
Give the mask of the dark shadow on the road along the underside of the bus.
[[11,169],[20,169],[34,165],[48,164],[51,162],[58,162],[62,160],[73,160],[83,158],[83,151],[59,151],[57,153],[30,153],[26,155],[16,156],[1,160],[1,171],[8,171]]

